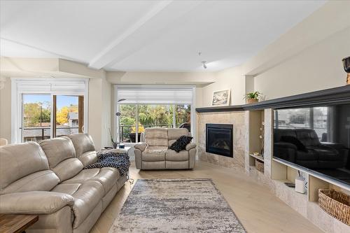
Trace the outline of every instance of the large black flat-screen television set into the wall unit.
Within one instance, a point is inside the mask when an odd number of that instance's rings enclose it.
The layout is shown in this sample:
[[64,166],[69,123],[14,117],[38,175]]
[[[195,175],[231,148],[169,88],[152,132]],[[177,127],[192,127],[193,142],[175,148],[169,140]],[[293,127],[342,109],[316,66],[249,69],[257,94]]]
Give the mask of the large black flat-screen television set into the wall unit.
[[274,110],[274,158],[350,185],[350,102]]

